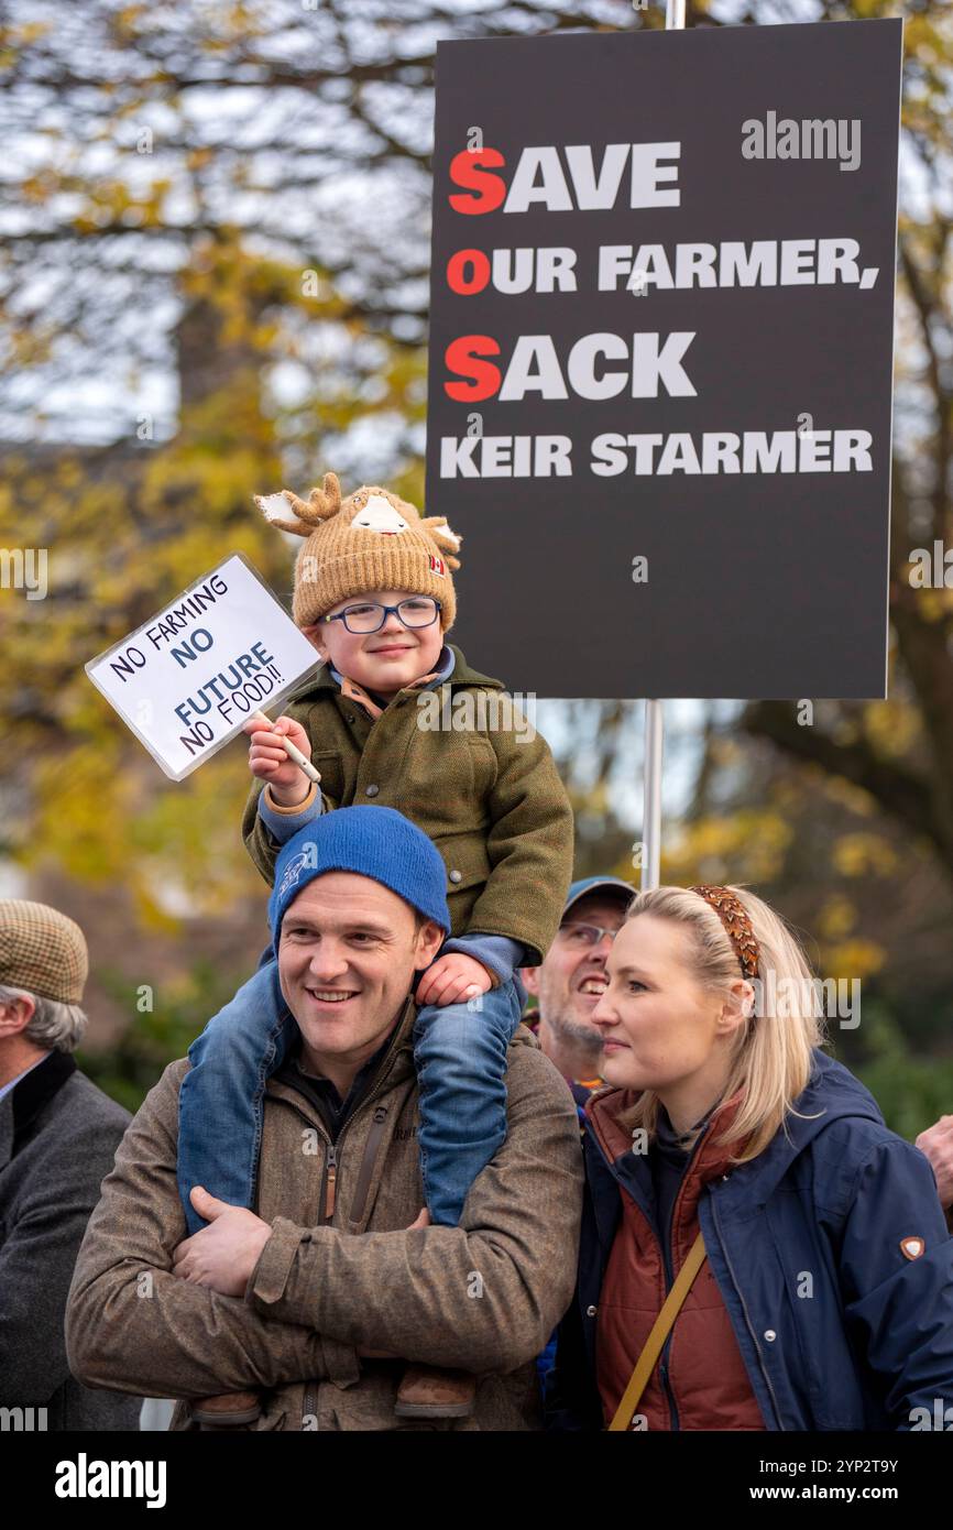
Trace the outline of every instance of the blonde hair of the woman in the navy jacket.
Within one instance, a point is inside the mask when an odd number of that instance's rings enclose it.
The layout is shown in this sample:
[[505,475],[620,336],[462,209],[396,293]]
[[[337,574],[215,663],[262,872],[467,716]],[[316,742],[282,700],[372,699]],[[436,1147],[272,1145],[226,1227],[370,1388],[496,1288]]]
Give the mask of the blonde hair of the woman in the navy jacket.
[[[812,1048],[823,1045],[823,1010],[808,959],[783,920],[743,887],[730,887],[743,904],[759,944],[754,985],[754,1013],[737,1033],[731,1069],[722,1105],[743,1091],[734,1120],[716,1137],[720,1146],[742,1143],[734,1163],[756,1158],[779,1129],[785,1128],[794,1102],[811,1077]],[[635,895],[626,921],[639,913],[681,924],[688,938],[691,975],[713,994],[727,994],[743,976],[734,947],[720,918],[698,892],[688,887],[655,887]],[[777,998],[783,1002],[777,1004]],[[820,1010],[820,1013],[818,1013]],[[641,1126],[649,1140],[655,1135],[659,1112],[658,1094],[644,1089],[626,1114],[627,1125]]]

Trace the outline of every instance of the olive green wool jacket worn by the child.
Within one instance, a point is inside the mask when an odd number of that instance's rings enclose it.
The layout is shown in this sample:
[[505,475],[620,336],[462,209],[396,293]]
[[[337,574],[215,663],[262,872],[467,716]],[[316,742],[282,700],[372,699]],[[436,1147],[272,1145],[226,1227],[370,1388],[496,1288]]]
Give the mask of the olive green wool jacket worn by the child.
[[[376,719],[327,666],[285,711],[311,739],[326,809],[378,803],[430,835],[447,866],[454,936],[505,935],[540,962],[572,878],[572,808],[549,745],[502,681],[448,647],[450,678],[399,692]],[[280,846],[257,811],[262,789],[255,782],[242,834],[272,883]]]

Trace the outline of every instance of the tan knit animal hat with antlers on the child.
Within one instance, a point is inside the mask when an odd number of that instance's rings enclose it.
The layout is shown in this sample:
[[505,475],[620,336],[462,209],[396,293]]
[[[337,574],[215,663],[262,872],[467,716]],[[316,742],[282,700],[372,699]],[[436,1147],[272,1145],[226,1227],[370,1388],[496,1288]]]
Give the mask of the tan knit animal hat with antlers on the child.
[[[405,589],[441,601],[444,632],[456,617],[451,569],[460,539],[444,516],[421,516],[415,505],[390,490],[367,487],[341,499],[335,473],[324,487],[312,488],[307,500],[285,488],[280,494],[255,494],[255,503],[281,531],[307,540],[295,562],[292,614],[300,627],[324,617],[349,595],[375,589]],[[295,519],[288,519],[292,509]]]

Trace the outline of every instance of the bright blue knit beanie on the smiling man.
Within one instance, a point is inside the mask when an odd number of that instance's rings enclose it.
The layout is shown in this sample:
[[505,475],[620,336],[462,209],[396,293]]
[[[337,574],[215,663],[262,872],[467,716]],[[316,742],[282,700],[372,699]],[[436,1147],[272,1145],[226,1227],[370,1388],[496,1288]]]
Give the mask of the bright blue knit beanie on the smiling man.
[[288,906],[327,871],[372,877],[450,932],[447,868],[424,831],[395,808],[335,808],[300,829],[278,855],[268,901],[275,946]]

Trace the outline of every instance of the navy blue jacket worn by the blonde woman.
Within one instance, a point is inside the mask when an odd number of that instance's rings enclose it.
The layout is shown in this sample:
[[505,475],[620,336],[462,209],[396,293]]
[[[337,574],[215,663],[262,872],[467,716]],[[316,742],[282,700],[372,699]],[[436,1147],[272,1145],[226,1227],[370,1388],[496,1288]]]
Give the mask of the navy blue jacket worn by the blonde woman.
[[[710,1181],[699,1201],[711,1273],[765,1427],[910,1429],[924,1417],[913,1409],[933,1417],[936,1398],[953,1405],[953,1238],[933,1170],[820,1050],[795,1109],[786,1135]],[[584,1158],[580,1274],[546,1389],[551,1429],[604,1427],[595,1314],[620,1187],[656,1226],[644,1154],[626,1151],[610,1164],[587,1131]],[[925,1239],[915,1259],[901,1248],[910,1236]]]

